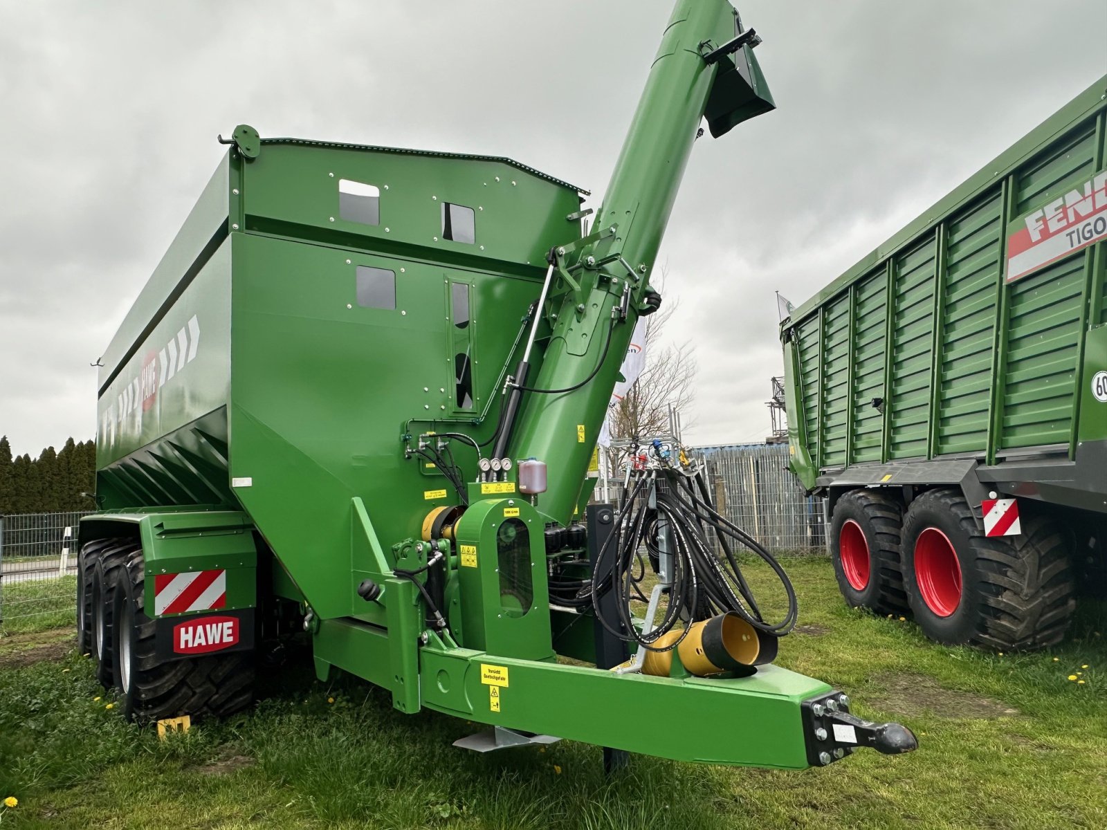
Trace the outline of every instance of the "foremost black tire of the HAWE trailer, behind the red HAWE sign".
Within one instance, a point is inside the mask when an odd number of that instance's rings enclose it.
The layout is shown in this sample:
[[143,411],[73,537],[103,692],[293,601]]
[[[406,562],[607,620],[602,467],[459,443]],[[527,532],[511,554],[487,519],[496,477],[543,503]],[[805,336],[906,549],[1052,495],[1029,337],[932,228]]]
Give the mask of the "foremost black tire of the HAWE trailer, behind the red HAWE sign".
[[226,717],[254,699],[254,652],[162,660],[156,623],[143,609],[145,564],[135,551],[118,571],[115,591],[114,674],[128,720],[149,723],[188,715]]

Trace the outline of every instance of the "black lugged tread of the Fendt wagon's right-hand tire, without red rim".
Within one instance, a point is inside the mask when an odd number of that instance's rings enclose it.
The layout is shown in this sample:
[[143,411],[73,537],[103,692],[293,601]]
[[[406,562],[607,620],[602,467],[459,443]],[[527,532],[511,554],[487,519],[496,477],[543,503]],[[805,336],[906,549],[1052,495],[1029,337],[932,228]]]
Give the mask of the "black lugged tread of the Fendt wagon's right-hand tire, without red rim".
[[985,537],[958,490],[929,490],[917,501],[949,511],[966,532],[982,579],[984,613],[970,643],[1001,651],[1056,645],[1076,611],[1068,543],[1053,519],[1024,510],[1020,536]]

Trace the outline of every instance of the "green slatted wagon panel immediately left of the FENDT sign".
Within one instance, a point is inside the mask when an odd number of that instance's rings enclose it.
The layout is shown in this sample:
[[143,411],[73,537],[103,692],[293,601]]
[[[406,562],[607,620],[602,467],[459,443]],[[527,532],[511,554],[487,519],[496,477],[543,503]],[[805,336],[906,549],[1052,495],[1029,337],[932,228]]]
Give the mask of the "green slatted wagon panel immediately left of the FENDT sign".
[[935,455],[987,448],[995,318],[1002,279],[1003,197],[989,197],[946,226],[945,299]]

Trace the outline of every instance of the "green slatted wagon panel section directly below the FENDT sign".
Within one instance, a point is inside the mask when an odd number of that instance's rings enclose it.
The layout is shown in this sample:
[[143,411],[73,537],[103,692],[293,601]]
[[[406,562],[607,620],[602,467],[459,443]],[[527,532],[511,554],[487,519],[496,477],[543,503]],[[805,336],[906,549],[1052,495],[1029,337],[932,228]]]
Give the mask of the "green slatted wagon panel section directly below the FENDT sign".
[[1069,257],[1008,288],[1003,448],[1069,439],[1084,256]]

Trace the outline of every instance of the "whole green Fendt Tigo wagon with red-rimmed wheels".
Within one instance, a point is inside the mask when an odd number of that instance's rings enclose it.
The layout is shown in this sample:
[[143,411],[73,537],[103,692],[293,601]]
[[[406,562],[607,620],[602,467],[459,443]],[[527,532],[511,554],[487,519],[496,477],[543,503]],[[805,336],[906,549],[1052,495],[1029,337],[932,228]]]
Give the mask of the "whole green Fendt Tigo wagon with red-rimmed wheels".
[[792,470],[852,605],[1062,640],[1107,585],[1107,77],[780,325]]

